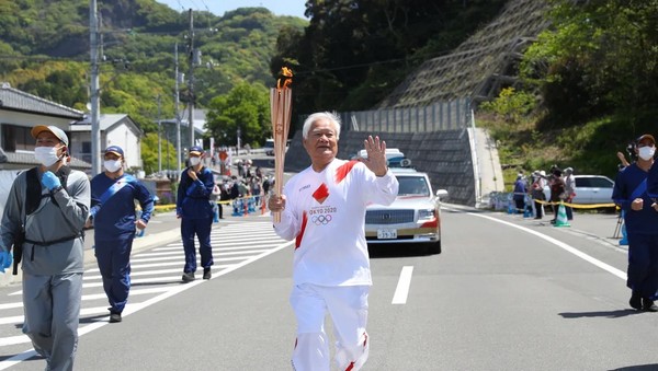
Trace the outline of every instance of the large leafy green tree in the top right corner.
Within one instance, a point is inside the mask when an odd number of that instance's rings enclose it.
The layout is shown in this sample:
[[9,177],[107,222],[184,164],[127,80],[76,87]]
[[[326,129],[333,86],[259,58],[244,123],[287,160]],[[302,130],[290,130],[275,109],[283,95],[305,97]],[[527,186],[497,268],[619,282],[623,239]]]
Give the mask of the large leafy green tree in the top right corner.
[[631,121],[658,100],[658,1],[553,0],[554,27],[521,71],[543,93],[554,125],[617,115]]

